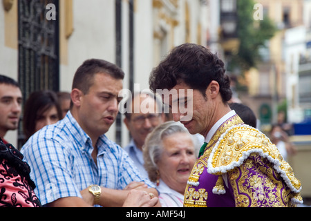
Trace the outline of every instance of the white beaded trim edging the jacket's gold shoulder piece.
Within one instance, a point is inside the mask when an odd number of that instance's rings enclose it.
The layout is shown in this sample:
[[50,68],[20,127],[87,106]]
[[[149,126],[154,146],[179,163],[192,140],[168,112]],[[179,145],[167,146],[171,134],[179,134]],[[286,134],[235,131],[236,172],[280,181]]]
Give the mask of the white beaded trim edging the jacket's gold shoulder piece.
[[249,151],[245,151],[243,152],[242,157],[238,160],[238,162],[232,162],[232,164],[229,164],[227,166],[218,166],[216,168],[214,168],[211,164],[211,160],[214,157],[214,154],[216,152],[216,149],[218,148],[220,141],[223,140],[223,137],[225,137],[225,135],[227,135],[227,133],[229,133],[229,131],[231,131],[234,128],[237,127],[249,127],[252,129],[255,129],[256,132],[260,133],[261,135],[263,135],[267,140],[270,140],[267,136],[265,136],[263,133],[261,133],[261,131],[258,131],[256,128],[253,128],[252,126],[248,126],[248,125],[235,125],[232,126],[230,128],[227,129],[227,131],[225,133],[223,133],[218,142],[215,144],[213,151],[211,151],[211,155],[209,156],[209,159],[207,160],[207,171],[208,173],[211,174],[218,174],[218,173],[227,173],[228,171],[231,171],[232,169],[241,166],[241,164],[243,164],[244,160],[247,159],[247,157],[249,157],[250,154],[252,153],[258,153],[259,155],[261,155],[261,157],[265,157],[267,158],[267,160],[269,160],[270,162],[272,162],[272,164],[274,164],[274,169],[276,169],[276,172],[281,174],[281,177],[283,177],[285,183],[288,185],[288,187],[290,188],[291,191],[293,191],[294,193],[299,193],[301,191],[301,186],[299,189],[296,189],[293,185],[292,182],[290,182],[290,178],[288,177],[288,175],[286,175],[285,171],[283,171],[280,166],[281,166],[281,162],[278,159],[274,159],[273,157],[271,157],[268,153],[263,153],[263,150],[261,148],[254,148],[251,149]]

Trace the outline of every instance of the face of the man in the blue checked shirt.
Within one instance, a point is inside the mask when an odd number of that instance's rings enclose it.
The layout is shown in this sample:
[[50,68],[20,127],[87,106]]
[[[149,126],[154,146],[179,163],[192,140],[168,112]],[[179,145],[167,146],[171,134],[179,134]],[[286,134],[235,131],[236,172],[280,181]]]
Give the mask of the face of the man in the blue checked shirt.
[[118,104],[122,97],[122,79],[115,79],[105,73],[97,73],[93,85],[80,98],[79,124],[88,135],[100,136],[115,122]]

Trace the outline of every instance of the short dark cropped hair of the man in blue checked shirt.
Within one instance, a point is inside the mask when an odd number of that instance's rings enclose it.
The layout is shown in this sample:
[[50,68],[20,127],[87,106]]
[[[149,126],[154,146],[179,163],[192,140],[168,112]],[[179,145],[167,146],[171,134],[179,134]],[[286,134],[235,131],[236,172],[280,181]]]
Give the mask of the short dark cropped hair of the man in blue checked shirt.
[[72,88],[77,88],[87,94],[93,85],[94,75],[97,73],[105,73],[115,79],[124,79],[123,70],[115,64],[102,59],[88,59],[77,68]]

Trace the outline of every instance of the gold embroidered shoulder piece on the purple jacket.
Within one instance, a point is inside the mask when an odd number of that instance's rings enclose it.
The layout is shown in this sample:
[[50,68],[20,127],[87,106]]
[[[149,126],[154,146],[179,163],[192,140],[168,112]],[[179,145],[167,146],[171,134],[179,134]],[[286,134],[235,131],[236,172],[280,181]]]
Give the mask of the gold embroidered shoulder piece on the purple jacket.
[[281,173],[287,186],[295,193],[300,192],[301,182],[294,176],[290,164],[283,160],[278,148],[263,133],[250,126],[234,126],[226,131],[209,156],[208,171],[215,175],[232,171],[252,153],[258,153],[274,165],[265,173]]

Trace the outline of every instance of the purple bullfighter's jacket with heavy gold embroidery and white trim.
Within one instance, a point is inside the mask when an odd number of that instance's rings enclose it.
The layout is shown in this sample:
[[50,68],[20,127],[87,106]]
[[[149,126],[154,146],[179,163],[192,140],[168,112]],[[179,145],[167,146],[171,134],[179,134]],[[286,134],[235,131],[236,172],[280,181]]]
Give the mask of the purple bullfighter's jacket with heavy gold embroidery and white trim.
[[269,138],[238,115],[222,124],[196,161],[185,206],[295,206],[301,183]]

